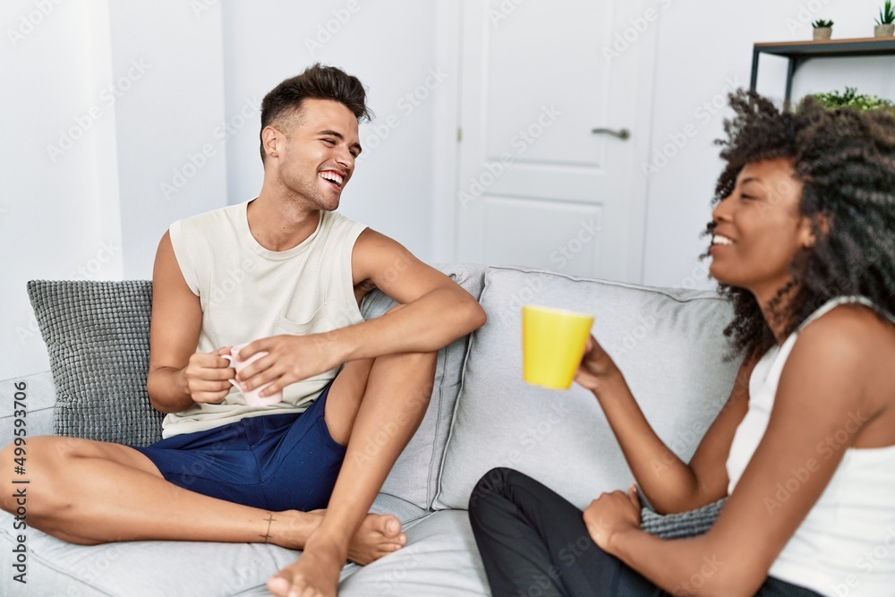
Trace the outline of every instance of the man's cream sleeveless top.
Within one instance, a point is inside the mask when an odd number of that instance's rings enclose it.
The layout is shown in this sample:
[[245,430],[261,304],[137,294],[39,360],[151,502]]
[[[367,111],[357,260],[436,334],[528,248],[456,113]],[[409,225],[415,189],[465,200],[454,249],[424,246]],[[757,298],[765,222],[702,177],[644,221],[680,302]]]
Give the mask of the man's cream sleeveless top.
[[[288,251],[268,251],[251,235],[248,203],[171,225],[177,262],[202,307],[197,350],[209,353],[262,337],[320,334],[360,323],[351,254],[366,226],[321,211],[317,229],[303,243]],[[205,431],[248,416],[302,412],[338,371],[287,386],[283,402],[276,405],[246,405],[242,392],[233,388],[222,404],[197,404],[167,414],[163,435]]]

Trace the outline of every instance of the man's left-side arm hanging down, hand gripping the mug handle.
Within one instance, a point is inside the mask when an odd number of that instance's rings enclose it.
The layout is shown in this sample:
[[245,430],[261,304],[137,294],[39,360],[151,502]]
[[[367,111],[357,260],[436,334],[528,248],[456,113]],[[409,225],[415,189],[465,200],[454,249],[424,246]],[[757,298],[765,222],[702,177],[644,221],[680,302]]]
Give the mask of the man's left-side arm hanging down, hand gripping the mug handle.
[[197,354],[202,327],[199,297],[183,279],[169,233],[158,243],[152,270],[152,321],[149,325],[149,376],[146,388],[162,413],[184,411],[197,402],[217,403],[234,376],[221,354]]

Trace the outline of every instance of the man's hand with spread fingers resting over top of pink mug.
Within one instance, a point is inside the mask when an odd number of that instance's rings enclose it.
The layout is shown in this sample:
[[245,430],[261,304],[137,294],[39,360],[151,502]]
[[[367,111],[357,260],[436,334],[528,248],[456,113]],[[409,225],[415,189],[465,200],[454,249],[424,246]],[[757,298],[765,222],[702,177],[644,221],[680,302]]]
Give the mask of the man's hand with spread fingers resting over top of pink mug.
[[345,362],[335,343],[329,342],[323,334],[261,338],[244,346],[239,356],[244,361],[261,351],[268,354],[236,376],[243,391],[260,388],[269,382],[270,385],[260,392],[261,397],[276,394],[291,383],[307,380]]

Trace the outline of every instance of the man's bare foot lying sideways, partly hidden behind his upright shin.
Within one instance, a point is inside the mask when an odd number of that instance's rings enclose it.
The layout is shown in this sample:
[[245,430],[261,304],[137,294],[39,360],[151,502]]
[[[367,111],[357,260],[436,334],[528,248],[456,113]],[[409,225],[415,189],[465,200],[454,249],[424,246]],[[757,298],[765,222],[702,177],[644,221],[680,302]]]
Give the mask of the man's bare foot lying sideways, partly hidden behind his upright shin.
[[[323,522],[326,510],[312,512],[275,512],[270,526],[270,539],[282,547],[303,550],[311,533]],[[401,533],[401,521],[390,514],[368,514],[348,544],[348,559],[366,565],[392,551],[401,549],[407,535]]]

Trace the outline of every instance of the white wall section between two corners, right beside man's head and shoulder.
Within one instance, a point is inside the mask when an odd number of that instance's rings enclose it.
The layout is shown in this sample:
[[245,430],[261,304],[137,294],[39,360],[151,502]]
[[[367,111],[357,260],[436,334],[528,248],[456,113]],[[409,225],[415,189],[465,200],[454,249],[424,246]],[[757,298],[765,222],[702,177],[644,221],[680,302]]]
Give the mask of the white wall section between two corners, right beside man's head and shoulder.
[[[116,104],[124,277],[149,278],[175,219],[226,205],[220,7],[111,0],[113,68],[143,72]],[[121,75],[118,75],[121,76]]]

